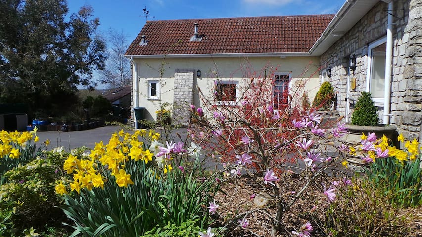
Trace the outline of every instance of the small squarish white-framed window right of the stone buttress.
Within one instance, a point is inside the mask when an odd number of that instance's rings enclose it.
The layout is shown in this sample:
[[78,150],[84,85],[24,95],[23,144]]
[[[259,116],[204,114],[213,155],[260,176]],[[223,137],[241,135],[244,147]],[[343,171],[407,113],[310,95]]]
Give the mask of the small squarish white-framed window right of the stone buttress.
[[235,105],[238,98],[238,81],[214,81],[214,99],[216,104]]

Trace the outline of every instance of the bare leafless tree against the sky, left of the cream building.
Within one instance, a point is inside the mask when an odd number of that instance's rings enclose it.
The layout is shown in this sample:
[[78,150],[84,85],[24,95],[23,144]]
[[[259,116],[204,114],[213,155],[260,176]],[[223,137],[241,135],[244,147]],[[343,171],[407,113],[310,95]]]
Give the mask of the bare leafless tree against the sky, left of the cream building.
[[99,71],[100,82],[110,88],[117,88],[132,83],[131,65],[125,58],[125,52],[129,47],[127,36],[123,31],[109,29],[107,32],[107,56],[106,68]]

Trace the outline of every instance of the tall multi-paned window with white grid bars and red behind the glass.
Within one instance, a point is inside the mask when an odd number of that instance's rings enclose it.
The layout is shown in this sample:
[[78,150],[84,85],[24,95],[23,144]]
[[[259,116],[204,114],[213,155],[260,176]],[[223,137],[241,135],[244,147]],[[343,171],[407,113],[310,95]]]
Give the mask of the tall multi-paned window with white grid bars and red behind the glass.
[[275,110],[287,107],[289,78],[288,74],[274,75],[273,107]]

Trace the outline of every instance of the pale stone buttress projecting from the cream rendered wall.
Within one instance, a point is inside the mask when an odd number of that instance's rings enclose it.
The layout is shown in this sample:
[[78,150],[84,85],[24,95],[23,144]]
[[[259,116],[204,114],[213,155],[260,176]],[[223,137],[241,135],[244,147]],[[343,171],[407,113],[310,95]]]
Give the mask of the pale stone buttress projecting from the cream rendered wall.
[[190,105],[193,103],[195,70],[176,69],[174,74],[173,124],[189,125]]

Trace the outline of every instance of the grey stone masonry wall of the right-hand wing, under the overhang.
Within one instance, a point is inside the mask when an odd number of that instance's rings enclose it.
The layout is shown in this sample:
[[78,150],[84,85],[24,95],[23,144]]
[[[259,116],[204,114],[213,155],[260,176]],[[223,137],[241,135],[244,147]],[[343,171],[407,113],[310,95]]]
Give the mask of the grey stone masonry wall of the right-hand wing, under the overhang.
[[[393,17],[393,62],[391,83],[390,124],[398,127],[408,139],[421,141],[422,120],[422,0],[395,0]],[[403,11],[404,9],[404,11]],[[322,67],[331,66],[330,82],[337,92],[337,110],[346,110],[347,90],[350,90],[350,114],[361,91],[366,91],[368,45],[386,36],[388,4],[378,2],[349,32],[323,55]],[[356,89],[347,88],[349,57],[355,54]],[[380,117],[382,118],[382,107]],[[341,113],[342,112],[342,113]],[[349,117],[350,118],[350,117]],[[350,121],[350,120],[349,120]]]

